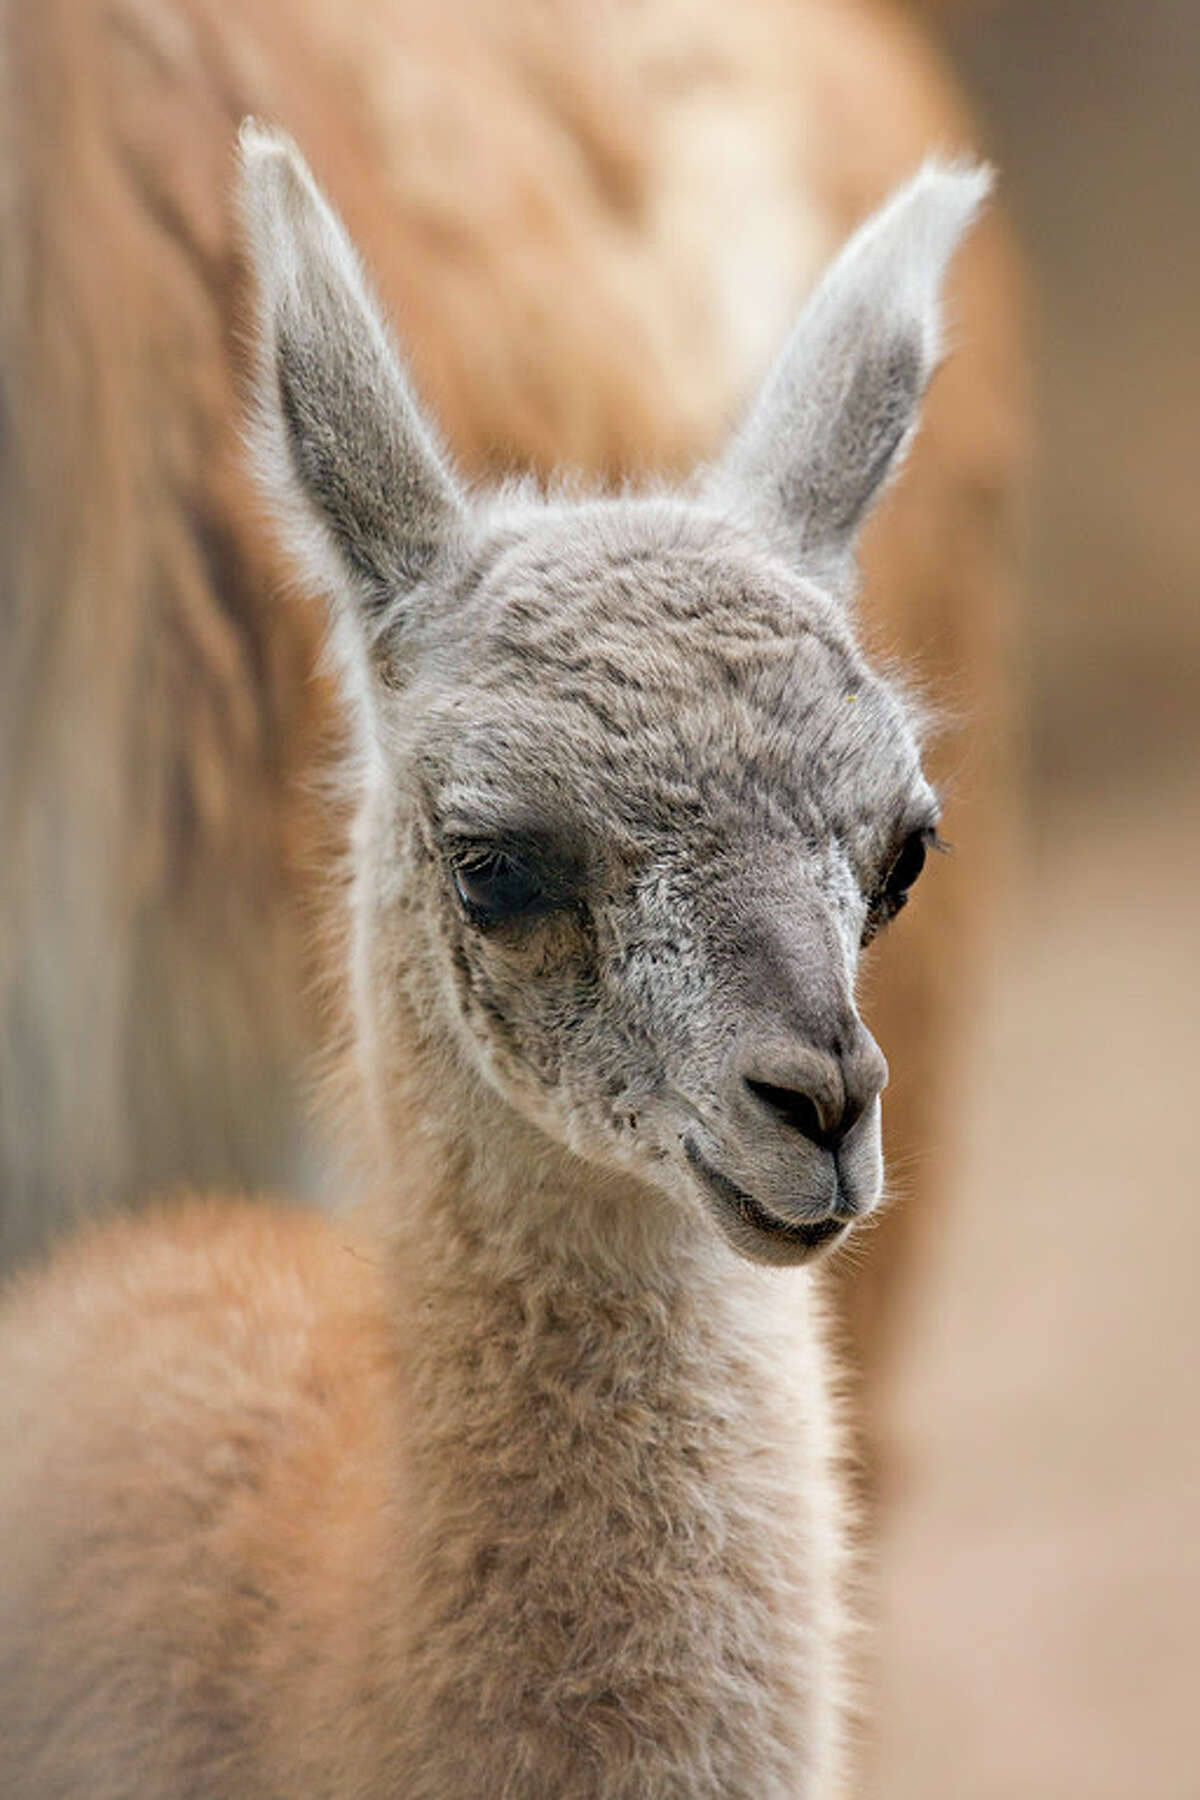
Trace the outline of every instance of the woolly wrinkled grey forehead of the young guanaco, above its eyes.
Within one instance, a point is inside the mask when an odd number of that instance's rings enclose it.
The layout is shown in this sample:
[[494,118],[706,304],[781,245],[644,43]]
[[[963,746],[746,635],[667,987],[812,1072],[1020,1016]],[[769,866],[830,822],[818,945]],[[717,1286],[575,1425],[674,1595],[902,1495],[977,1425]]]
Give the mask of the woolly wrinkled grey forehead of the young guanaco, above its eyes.
[[772,842],[869,871],[932,817],[846,608],[745,527],[667,495],[513,495],[477,529],[396,702],[446,837],[603,837],[711,878]]

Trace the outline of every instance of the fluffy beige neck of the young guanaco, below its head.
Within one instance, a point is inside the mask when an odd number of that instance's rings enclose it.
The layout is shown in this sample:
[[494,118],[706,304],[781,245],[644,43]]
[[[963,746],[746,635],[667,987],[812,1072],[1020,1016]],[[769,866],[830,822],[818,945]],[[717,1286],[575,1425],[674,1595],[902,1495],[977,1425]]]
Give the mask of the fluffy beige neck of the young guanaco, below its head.
[[810,1276],[750,1267],[498,1096],[444,1098],[410,1089],[387,1177],[403,1791],[824,1795]]

